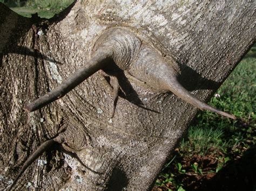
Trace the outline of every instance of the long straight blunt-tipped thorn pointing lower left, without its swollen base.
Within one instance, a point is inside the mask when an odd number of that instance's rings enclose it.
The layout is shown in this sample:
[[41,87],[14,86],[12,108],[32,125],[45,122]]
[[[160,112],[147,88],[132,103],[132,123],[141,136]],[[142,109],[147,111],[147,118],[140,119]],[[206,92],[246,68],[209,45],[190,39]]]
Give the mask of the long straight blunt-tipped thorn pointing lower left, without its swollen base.
[[105,62],[110,58],[110,52],[97,51],[95,55],[89,60],[82,68],[73,73],[65,82],[53,89],[50,93],[39,97],[29,105],[26,105],[23,109],[31,112],[44,107],[45,105],[58,100],[63,97],[73,88],[82,83],[85,79],[96,73],[99,69],[105,66]]

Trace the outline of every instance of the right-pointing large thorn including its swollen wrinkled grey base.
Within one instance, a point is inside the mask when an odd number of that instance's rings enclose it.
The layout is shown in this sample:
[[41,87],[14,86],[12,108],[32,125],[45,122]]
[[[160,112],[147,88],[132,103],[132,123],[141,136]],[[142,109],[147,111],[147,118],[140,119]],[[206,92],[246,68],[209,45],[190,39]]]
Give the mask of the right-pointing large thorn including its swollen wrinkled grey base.
[[194,105],[194,107],[201,110],[213,111],[225,117],[235,119],[235,116],[215,109],[203,101],[200,101],[196,96],[193,96],[181,86],[177,80],[177,76],[179,75],[177,63],[174,60],[163,58],[163,56],[152,47],[144,45],[140,48],[138,59],[133,63],[130,73],[153,88],[172,91],[173,94]]

